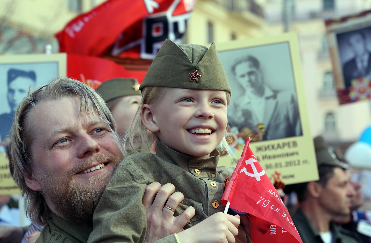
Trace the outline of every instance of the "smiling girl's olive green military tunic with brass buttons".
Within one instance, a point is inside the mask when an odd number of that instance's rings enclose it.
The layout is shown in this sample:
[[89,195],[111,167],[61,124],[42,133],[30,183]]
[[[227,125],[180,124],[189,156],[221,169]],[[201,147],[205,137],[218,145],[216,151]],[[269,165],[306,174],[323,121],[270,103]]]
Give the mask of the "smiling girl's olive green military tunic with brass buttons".
[[[147,185],[155,181],[162,185],[172,183],[175,191],[184,194],[174,216],[188,206],[196,210],[184,229],[224,211],[220,199],[224,180],[232,175],[233,168],[217,167],[217,150],[207,159],[194,159],[169,149],[159,140],[155,150],[156,154],[132,154],[119,164],[95,209],[88,242],[144,242],[147,217],[142,197]],[[241,235],[245,237],[242,242],[250,241],[244,232]]]

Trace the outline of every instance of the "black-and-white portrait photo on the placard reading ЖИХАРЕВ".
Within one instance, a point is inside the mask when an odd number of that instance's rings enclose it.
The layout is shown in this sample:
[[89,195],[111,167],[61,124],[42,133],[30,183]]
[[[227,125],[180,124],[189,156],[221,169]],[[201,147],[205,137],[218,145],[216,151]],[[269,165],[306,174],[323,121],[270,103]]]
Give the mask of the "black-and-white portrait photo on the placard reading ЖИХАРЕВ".
[[219,55],[232,88],[230,127],[255,141],[302,135],[287,43]]

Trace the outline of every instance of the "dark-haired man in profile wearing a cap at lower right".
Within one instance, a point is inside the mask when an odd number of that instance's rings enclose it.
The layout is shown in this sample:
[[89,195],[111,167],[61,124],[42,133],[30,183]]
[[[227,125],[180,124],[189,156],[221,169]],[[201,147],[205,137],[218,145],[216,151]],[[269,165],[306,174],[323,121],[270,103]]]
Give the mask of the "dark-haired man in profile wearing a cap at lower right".
[[303,243],[360,243],[358,236],[336,225],[333,220],[350,213],[355,192],[345,172],[345,164],[331,154],[322,137],[314,139],[319,180],[288,185],[285,193],[295,191],[299,209],[292,220]]

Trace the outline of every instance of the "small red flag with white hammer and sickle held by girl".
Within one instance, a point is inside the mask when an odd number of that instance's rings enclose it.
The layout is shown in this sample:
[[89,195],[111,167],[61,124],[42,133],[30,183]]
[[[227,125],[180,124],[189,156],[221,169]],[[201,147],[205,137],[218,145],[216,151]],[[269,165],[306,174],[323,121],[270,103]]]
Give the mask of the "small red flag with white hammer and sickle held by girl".
[[250,140],[246,140],[221,202],[250,214],[252,242],[302,243],[281,197],[249,148]]

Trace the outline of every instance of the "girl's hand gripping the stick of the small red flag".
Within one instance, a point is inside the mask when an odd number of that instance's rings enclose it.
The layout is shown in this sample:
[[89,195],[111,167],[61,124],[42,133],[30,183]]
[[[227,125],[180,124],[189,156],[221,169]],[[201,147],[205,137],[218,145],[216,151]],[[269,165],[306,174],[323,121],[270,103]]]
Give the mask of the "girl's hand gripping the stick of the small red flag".
[[195,226],[178,233],[181,243],[234,243],[240,216],[215,213]]

